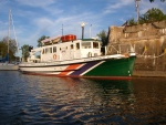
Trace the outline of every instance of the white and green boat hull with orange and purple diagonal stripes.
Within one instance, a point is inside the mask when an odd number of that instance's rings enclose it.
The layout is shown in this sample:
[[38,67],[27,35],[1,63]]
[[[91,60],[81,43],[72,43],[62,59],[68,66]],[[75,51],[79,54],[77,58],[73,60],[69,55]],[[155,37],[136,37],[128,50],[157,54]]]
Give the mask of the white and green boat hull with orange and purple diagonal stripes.
[[91,58],[59,63],[20,64],[27,74],[92,79],[131,79],[135,55],[128,58]]

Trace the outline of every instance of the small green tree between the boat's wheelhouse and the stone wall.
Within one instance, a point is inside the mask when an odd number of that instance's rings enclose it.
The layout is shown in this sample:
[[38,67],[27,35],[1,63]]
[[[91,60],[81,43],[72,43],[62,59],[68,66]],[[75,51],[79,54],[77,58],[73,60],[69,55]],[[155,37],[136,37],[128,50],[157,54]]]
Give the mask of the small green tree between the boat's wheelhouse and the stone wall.
[[101,31],[97,37],[101,39],[102,41],[102,45],[105,46],[107,45],[107,32],[106,31]]

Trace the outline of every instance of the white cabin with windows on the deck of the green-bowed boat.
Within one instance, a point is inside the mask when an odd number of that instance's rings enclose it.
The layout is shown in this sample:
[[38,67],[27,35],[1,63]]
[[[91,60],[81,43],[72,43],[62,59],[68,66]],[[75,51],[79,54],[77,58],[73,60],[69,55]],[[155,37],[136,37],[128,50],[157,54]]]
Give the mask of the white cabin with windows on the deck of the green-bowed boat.
[[[52,62],[64,61],[82,58],[91,58],[101,55],[101,41],[94,39],[84,40],[44,40],[42,48],[33,49],[30,52],[29,62]],[[35,56],[35,53],[40,53],[40,59]]]

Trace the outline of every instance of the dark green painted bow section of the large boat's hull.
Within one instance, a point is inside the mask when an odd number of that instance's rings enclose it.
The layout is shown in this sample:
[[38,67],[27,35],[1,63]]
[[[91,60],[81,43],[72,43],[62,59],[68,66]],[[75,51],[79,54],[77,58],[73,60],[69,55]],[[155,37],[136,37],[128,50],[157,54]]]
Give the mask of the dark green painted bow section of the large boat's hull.
[[106,60],[84,76],[132,76],[135,56]]

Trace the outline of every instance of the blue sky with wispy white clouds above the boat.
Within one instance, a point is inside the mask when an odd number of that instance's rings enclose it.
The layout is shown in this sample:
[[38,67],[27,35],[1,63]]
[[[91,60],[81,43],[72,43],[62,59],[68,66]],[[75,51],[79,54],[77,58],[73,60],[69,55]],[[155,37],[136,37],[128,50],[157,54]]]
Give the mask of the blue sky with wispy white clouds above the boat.
[[[148,9],[159,8],[166,13],[166,2],[141,0],[141,14]],[[81,38],[81,22],[85,22],[85,38],[96,37],[111,25],[122,25],[131,18],[136,19],[135,0],[0,0],[0,40],[8,35],[9,10],[19,42],[38,44],[42,35],[56,37],[76,34]],[[91,27],[92,24],[92,27]],[[13,34],[13,31],[11,31]],[[11,38],[14,37],[11,34]]]

